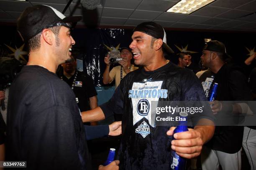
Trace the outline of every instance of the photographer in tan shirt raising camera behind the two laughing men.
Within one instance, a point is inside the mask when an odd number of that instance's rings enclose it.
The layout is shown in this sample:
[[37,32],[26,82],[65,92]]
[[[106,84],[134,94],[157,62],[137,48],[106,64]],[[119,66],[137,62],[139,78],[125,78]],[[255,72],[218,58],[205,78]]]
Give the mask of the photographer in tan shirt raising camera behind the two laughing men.
[[[115,88],[117,88],[120,84],[120,81],[125,75],[133,70],[138,69],[138,67],[135,67],[131,64],[131,59],[133,58],[131,49],[127,47],[122,47],[120,49],[120,57],[122,58],[122,60],[119,61],[118,58],[115,58],[115,60],[110,60],[109,54],[104,58],[104,62],[106,63],[106,69],[103,73],[103,83],[105,85],[115,80]],[[120,65],[113,67],[113,69],[110,71],[110,65],[113,63],[119,63]]]

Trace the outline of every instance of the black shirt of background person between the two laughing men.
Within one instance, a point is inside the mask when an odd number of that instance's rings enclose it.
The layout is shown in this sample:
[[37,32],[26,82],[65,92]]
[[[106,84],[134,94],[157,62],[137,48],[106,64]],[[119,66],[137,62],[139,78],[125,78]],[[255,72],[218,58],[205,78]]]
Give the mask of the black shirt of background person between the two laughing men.
[[64,75],[61,75],[61,79],[73,87],[80,111],[90,110],[89,98],[97,95],[92,78],[76,70],[69,79]]

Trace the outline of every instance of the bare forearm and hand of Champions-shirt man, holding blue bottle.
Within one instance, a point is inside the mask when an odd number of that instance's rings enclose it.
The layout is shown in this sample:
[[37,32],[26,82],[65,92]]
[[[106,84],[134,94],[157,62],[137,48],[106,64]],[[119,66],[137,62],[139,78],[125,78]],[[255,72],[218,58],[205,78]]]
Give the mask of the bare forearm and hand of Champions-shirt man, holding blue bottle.
[[175,133],[175,127],[167,131],[167,135],[173,135],[176,140],[172,140],[172,150],[184,158],[195,158],[200,155],[202,145],[210,140],[214,134],[214,122],[202,118],[198,121],[194,129],[187,132]]

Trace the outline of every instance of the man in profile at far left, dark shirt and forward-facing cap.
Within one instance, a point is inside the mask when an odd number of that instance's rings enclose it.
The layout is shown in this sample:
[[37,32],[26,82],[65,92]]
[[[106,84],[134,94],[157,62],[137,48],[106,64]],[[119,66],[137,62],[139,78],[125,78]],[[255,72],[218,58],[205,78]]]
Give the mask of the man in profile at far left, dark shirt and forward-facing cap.
[[[55,74],[59,64],[71,59],[75,41],[70,28],[80,19],[46,5],[28,7],[18,18],[29,60],[10,87],[7,160],[26,161],[32,170],[90,170],[86,139],[117,134],[113,130],[120,124],[85,133],[74,93]],[[117,164],[99,169],[118,169]]]

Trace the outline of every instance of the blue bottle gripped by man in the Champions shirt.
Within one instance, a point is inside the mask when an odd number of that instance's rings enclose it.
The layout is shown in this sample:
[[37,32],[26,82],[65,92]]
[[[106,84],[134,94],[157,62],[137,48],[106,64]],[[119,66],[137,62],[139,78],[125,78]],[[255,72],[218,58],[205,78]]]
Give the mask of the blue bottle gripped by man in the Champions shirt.
[[[188,114],[186,112],[179,113],[179,117],[180,117],[179,125],[177,126],[177,128],[174,129],[173,134],[188,131],[187,116]],[[174,137],[172,137],[172,140],[175,140]],[[174,150],[171,151],[171,156],[172,157],[171,157],[170,170],[185,170],[186,159],[179,156]]]

